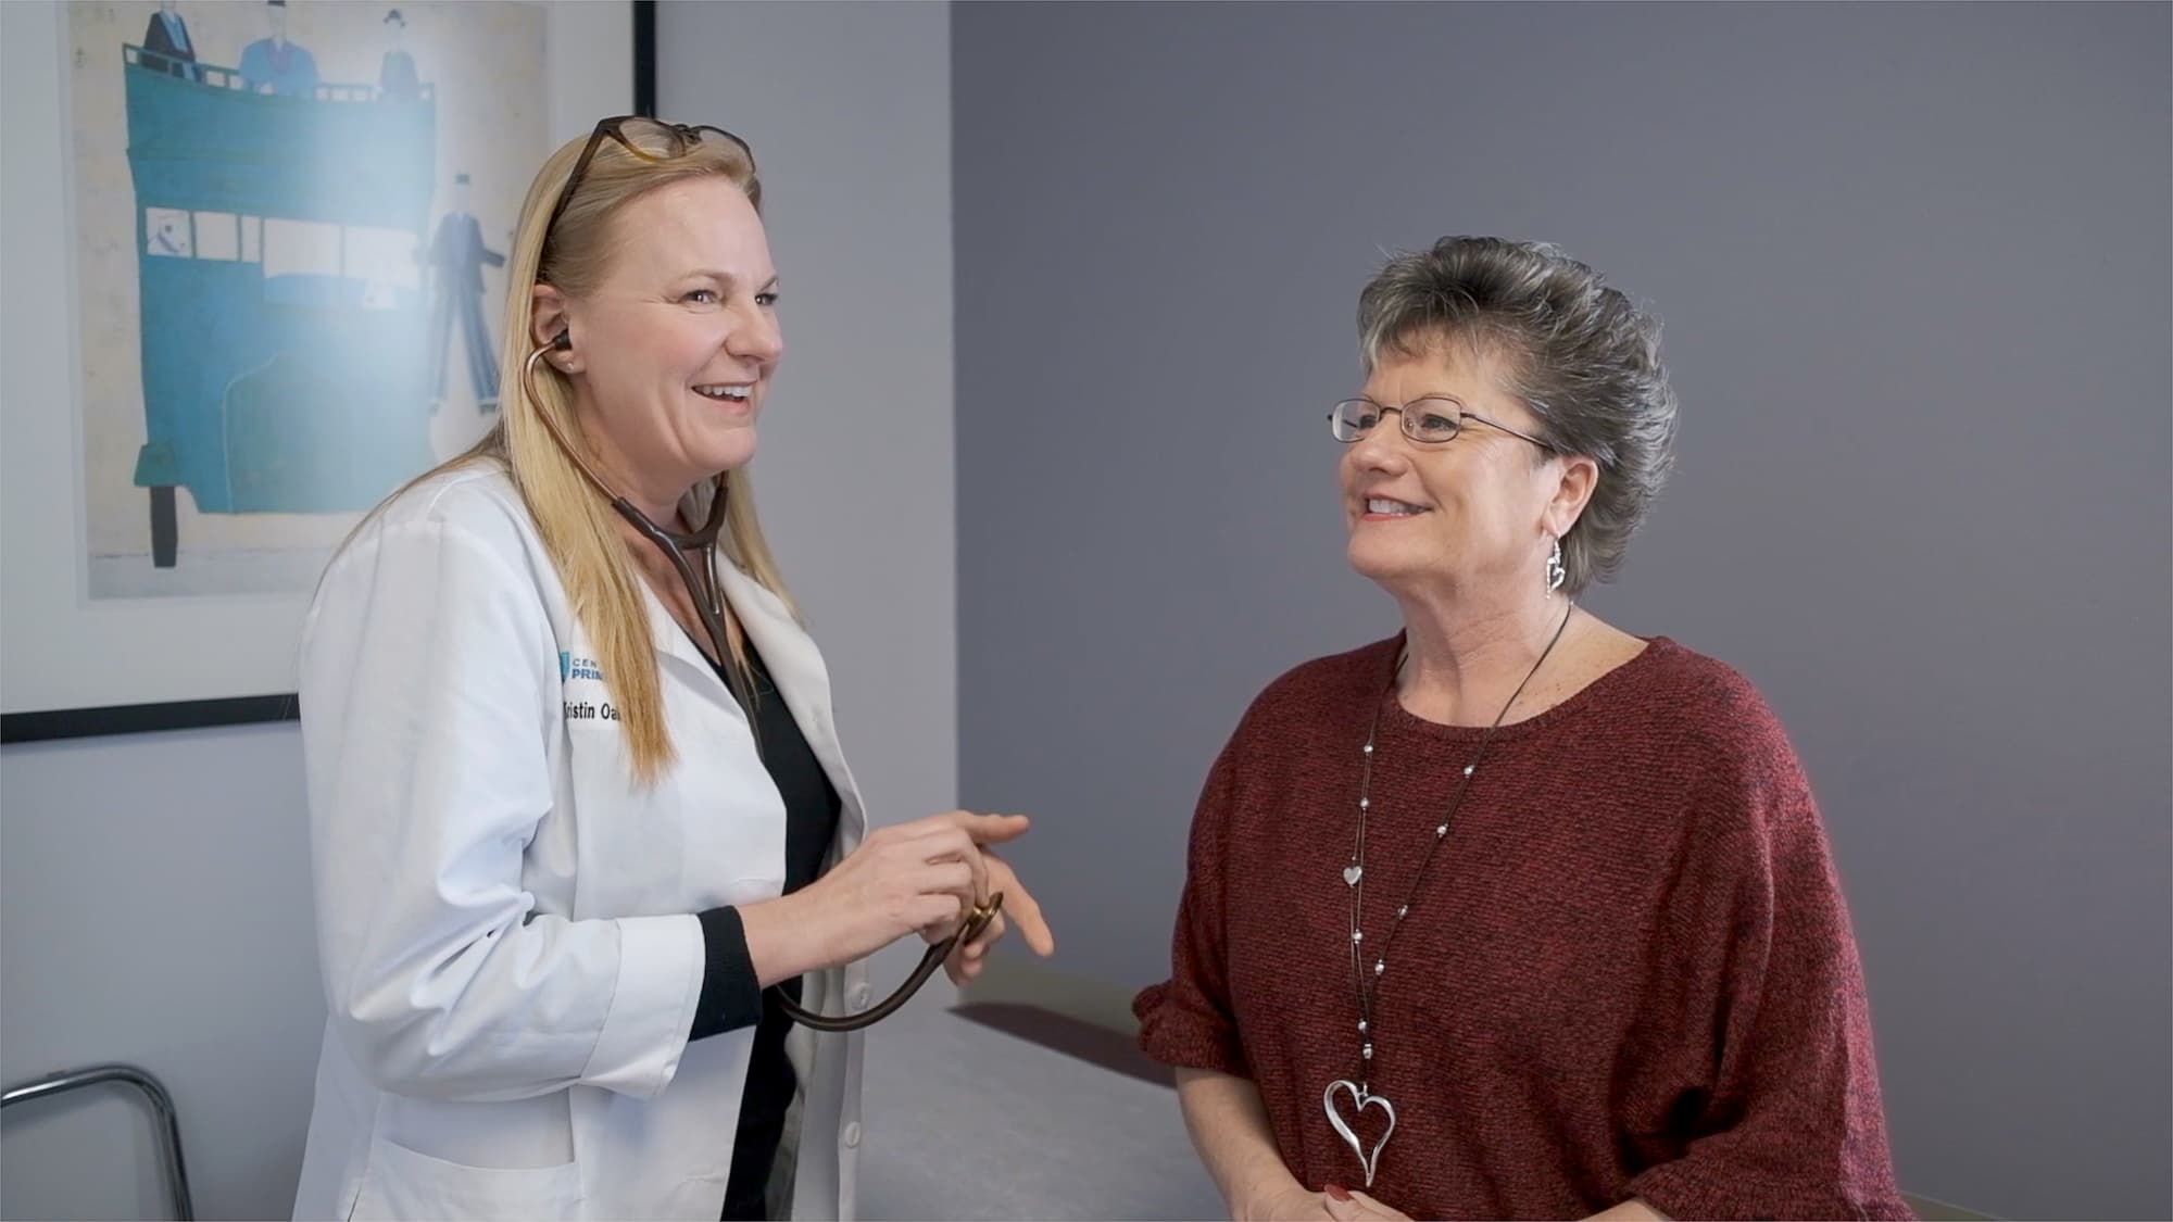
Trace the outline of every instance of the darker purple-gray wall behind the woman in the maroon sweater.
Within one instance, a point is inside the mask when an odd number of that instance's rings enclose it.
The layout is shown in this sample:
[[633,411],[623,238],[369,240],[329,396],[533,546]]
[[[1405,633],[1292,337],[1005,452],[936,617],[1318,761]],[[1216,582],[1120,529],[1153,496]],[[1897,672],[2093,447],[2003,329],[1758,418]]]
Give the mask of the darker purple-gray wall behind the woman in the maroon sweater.
[[2169,9],[960,4],[960,798],[1063,965],[1167,970],[1245,702],[1391,633],[1326,404],[1384,248],[1665,313],[1680,474],[1591,604],[1821,794],[1904,1187],[2166,1215]]

